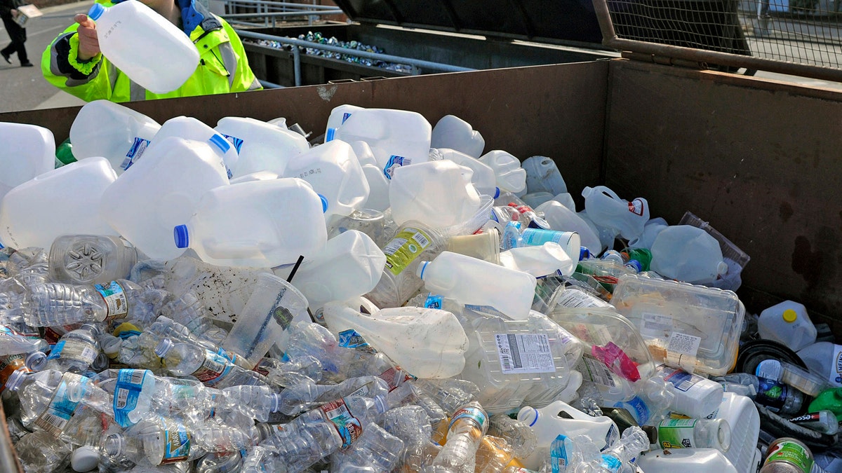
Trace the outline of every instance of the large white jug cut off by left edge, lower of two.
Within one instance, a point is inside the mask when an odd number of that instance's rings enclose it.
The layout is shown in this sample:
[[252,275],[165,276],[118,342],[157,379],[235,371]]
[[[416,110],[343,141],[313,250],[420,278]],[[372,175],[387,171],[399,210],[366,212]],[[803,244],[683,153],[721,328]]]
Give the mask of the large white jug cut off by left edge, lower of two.
[[0,244],[48,250],[61,235],[116,235],[97,212],[116,179],[105,158],[92,157],[20,184],[0,200]]

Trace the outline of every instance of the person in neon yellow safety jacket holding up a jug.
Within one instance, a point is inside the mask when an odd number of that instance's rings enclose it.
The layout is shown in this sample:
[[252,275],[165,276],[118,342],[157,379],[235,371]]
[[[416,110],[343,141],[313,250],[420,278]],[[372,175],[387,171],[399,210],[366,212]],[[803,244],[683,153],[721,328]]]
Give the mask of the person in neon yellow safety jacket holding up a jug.
[[[120,1],[123,0],[99,3],[110,7]],[[88,102],[99,99],[128,102],[262,88],[248,66],[242,41],[224,19],[195,0],[141,1],[183,29],[199,50],[199,66],[180,88],[169,93],[152,93],[133,82],[103,57],[96,24],[82,13],[74,18],[77,24],[67,28],[44,51],[41,72],[47,82]]]

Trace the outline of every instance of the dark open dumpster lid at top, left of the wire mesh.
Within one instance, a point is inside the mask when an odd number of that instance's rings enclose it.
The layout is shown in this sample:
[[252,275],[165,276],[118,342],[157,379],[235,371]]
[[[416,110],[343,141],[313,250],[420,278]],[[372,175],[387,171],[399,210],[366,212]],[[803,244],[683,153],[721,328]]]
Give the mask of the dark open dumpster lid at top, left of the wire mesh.
[[600,43],[590,0],[333,0],[360,23],[542,43]]

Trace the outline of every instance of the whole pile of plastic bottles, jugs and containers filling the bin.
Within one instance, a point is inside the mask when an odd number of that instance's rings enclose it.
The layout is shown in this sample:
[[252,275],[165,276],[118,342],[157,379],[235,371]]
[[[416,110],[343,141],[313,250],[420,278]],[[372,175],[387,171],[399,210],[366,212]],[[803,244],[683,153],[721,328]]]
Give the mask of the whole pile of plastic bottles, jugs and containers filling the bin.
[[61,165],[0,123],[24,470],[842,470],[842,346],[795,301],[747,314],[705,221],[604,186],[576,211],[453,115],[290,128],[98,101]]

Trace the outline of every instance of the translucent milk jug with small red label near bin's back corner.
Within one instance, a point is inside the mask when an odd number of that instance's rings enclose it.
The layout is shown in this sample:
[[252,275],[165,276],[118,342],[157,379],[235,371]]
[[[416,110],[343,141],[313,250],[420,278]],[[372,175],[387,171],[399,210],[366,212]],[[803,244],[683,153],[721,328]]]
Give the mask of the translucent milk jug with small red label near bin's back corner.
[[605,186],[586,187],[582,190],[584,210],[597,226],[616,230],[626,240],[637,238],[649,220],[649,205],[646,199],[631,202],[621,199]]

